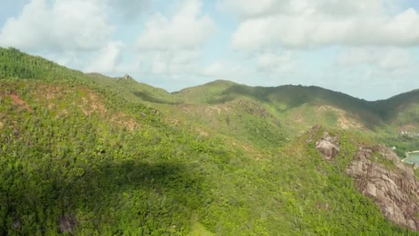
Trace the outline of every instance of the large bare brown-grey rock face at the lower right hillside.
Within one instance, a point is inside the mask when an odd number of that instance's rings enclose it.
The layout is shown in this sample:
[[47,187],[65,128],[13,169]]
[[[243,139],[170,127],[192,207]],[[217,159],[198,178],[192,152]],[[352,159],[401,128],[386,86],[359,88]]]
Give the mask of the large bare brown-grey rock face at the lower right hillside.
[[[394,166],[377,163],[373,153]],[[419,219],[415,217],[419,211],[419,183],[413,169],[402,164],[393,150],[385,146],[362,146],[346,173],[354,178],[362,194],[376,201],[391,222],[411,230],[419,229]]]

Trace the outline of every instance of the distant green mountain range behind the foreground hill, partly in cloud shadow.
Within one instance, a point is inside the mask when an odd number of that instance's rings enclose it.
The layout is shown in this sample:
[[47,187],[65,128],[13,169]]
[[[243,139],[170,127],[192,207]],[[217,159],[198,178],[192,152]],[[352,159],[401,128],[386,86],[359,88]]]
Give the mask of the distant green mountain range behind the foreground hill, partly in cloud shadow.
[[[365,101],[316,86],[249,87],[229,81],[214,81],[174,93],[189,103],[226,104],[250,99],[263,104],[293,126],[305,128],[320,123],[341,128],[377,130],[391,126],[419,128],[419,91],[414,90],[381,101]],[[325,120],[323,118],[329,117]],[[296,121],[296,122],[293,122]],[[297,123],[297,124],[295,124]]]

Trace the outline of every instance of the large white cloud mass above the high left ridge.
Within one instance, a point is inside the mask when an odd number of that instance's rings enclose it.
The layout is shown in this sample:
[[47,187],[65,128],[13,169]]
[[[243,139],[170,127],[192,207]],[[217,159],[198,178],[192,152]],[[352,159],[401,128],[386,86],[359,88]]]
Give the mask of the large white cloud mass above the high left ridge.
[[123,73],[132,65],[122,61],[126,46],[113,39],[114,24],[136,18],[149,5],[150,0],[30,0],[0,29],[0,46],[88,72]]

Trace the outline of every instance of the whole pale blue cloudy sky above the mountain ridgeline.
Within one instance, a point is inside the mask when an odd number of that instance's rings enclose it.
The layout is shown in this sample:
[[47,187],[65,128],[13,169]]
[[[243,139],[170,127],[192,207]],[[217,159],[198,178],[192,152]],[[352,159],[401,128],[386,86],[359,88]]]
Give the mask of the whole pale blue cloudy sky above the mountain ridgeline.
[[227,79],[386,99],[419,88],[419,1],[1,0],[0,46],[170,92]]

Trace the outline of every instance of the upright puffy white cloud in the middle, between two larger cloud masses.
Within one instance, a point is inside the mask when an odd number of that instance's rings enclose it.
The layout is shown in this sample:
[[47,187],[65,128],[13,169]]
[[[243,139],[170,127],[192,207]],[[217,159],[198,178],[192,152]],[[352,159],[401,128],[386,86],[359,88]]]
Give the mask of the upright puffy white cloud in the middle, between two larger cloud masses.
[[146,73],[178,77],[196,72],[203,47],[216,30],[214,21],[201,13],[202,2],[186,0],[172,17],[154,16],[145,23],[145,32],[136,46],[147,64]]

